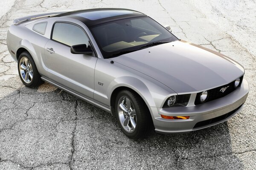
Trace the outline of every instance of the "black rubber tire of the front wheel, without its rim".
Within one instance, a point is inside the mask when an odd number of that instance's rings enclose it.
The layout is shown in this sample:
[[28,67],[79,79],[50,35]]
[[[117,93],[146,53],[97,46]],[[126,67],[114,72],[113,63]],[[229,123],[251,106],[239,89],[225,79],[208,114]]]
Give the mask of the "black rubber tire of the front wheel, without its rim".
[[[121,118],[119,118],[119,115],[122,116],[122,113],[121,113],[122,110],[120,109],[118,110],[118,107],[119,107],[120,99],[121,100],[124,99],[122,98],[123,96],[128,97],[128,99],[131,101],[132,107],[136,111],[136,127],[131,132],[128,132],[127,130],[125,130],[125,127],[122,126],[122,122],[120,120]],[[127,112],[123,111],[124,115],[125,113]],[[152,129],[152,118],[151,118],[151,114],[148,111],[148,107],[145,105],[145,102],[143,101],[143,99],[133,91],[123,90],[117,94],[116,101],[115,101],[115,114],[116,114],[117,122],[122,132],[125,133],[125,135],[131,139],[140,139],[140,138],[146,137]]]

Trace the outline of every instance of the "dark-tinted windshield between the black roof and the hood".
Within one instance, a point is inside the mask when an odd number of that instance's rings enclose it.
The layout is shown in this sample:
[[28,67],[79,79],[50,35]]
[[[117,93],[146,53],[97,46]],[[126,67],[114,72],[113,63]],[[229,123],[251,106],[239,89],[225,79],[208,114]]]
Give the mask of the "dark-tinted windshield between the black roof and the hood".
[[150,17],[111,21],[90,28],[104,58],[178,40]]

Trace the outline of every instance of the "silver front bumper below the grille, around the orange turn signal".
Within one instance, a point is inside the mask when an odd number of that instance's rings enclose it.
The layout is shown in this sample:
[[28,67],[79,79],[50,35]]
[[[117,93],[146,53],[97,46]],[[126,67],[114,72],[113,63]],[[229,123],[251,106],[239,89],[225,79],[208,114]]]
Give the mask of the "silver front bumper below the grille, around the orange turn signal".
[[[224,122],[236,115],[244,106],[249,93],[248,82],[244,79],[241,86],[220,99],[200,105],[186,107],[151,107],[154,127],[158,133],[183,133],[203,129]],[[189,119],[163,119],[166,116],[190,116]]]

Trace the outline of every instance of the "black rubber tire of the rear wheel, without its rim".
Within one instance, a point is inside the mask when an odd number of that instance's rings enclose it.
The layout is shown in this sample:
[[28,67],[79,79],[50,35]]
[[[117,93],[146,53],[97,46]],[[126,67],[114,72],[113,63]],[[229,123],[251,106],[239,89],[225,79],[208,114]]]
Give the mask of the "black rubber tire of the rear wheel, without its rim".
[[[32,65],[32,69],[30,69],[30,70],[32,70],[32,71],[31,71],[31,72],[32,72],[32,79],[31,79],[31,77],[29,76],[30,79],[28,78],[28,82],[26,82],[26,81],[25,81],[25,78],[23,78],[23,76],[26,75],[26,72],[27,72],[27,71],[22,71],[22,70],[20,69],[20,64],[21,64],[21,62],[22,62],[22,61],[20,61],[20,60],[23,59],[23,61],[24,61],[25,58],[27,58],[28,61],[30,62],[30,64]],[[26,65],[25,65],[25,66],[26,66]],[[20,70],[21,70],[21,71],[20,71]],[[35,62],[34,62],[32,56],[29,54],[28,51],[22,52],[22,53],[20,54],[20,56],[19,56],[19,59],[18,59],[18,72],[19,72],[19,76],[20,76],[20,79],[21,79],[21,81],[23,82],[23,84],[26,85],[26,86],[29,87],[29,88],[38,87],[39,85],[41,85],[41,84],[43,83],[43,80],[41,79],[41,75],[39,74],[39,72],[38,72],[38,70],[37,70],[37,67],[36,67],[36,65],[35,65]],[[21,72],[23,72],[23,73],[21,73]]]

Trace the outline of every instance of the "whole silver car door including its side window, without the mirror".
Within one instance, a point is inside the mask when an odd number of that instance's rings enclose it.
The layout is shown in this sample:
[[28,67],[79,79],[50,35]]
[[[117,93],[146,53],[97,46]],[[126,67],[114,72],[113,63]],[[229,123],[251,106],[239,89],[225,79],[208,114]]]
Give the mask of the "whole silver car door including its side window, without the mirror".
[[52,38],[45,45],[49,79],[93,99],[95,54],[72,54],[72,45],[90,44],[82,28],[72,23],[55,23]]

